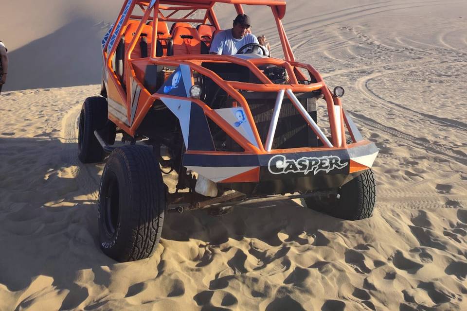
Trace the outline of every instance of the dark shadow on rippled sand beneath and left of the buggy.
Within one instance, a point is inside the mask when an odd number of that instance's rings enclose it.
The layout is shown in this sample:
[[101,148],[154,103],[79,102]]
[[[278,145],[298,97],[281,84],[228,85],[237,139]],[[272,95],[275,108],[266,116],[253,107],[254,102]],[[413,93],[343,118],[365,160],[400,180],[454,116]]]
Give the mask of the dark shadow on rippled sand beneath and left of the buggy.
[[[0,138],[0,146],[0,249],[4,254],[0,284],[16,292],[26,290],[38,276],[51,277],[55,289],[70,291],[60,308],[67,310],[89,296],[88,289],[77,284],[83,270],[92,271],[90,282],[108,287],[112,269],[147,262],[117,263],[101,252],[95,199],[102,164],[80,164],[76,143],[47,137]],[[236,207],[221,217],[205,211],[167,213],[162,243],[198,239],[217,245],[254,238],[271,247],[288,241],[324,246],[330,241],[323,232],[342,228],[340,220],[294,202],[254,207]],[[187,243],[187,247],[191,246]],[[245,259],[238,253],[228,264],[241,270]],[[197,266],[206,266],[207,260],[200,259]],[[263,259],[265,265],[271,260],[266,255]],[[222,288],[227,281],[220,278],[211,288]]]

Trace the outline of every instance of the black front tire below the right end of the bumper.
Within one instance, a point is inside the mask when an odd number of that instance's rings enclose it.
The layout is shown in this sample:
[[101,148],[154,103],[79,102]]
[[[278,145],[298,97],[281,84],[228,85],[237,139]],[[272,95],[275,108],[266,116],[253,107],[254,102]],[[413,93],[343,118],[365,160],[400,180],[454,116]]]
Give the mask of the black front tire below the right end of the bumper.
[[368,169],[338,190],[337,196],[319,200],[305,198],[306,207],[345,219],[359,220],[371,217],[376,201],[376,183],[373,171]]

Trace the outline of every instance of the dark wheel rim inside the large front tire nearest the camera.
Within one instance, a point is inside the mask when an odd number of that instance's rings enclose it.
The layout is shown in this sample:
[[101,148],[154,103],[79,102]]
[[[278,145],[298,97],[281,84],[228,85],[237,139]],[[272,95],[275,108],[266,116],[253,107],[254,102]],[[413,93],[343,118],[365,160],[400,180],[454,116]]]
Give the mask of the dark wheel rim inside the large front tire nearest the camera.
[[118,181],[115,175],[111,175],[108,180],[108,190],[104,202],[104,227],[108,235],[113,236],[117,231],[118,215],[120,211],[120,192]]

